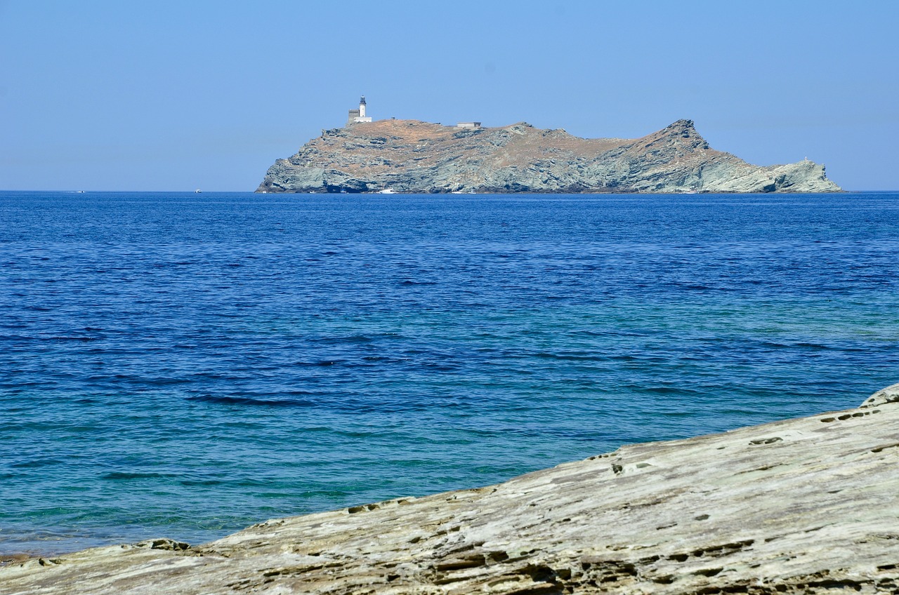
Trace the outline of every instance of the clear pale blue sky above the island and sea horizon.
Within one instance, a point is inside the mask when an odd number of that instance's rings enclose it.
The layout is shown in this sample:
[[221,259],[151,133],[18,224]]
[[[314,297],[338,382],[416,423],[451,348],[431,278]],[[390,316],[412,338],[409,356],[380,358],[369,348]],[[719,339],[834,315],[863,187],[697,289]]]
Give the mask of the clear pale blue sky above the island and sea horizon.
[[0,0],[0,190],[252,191],[369,115],[637,138],[897,190],[899,2]]

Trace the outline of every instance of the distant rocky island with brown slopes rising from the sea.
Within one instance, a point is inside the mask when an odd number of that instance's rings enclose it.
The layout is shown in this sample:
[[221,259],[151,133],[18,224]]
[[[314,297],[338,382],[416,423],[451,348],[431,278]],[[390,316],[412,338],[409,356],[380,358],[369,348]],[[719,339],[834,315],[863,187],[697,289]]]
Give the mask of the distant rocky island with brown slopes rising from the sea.
[[577,138],[520,123],[456,129],[379,120],[324,130],[258,192],[832,192],[811,161],[759,167],[708,147],[691,120],[644,138]]

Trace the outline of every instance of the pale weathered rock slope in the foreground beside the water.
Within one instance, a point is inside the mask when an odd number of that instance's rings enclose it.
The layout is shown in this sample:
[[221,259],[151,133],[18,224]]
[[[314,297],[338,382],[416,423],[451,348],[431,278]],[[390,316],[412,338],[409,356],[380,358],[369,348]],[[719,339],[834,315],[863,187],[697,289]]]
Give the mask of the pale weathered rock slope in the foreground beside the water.
[[0,593],[899,593],[899,385],[504,484],[0,567]]

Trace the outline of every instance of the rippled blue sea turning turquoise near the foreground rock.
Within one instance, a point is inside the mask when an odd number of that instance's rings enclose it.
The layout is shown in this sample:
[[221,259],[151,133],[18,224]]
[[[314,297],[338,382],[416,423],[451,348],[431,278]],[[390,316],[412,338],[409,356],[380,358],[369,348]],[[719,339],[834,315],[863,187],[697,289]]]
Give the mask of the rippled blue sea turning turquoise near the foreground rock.
[[854,406],[897,273],[896,193],[0,192],[0,553]]

